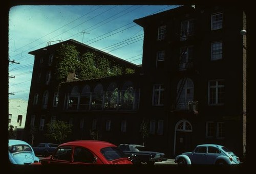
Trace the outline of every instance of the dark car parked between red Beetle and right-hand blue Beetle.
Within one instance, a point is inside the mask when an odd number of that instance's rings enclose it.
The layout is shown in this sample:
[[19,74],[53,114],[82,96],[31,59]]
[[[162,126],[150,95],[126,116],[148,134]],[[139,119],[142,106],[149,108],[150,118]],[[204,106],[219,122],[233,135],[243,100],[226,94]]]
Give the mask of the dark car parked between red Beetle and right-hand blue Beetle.
[[119,144],[118,147],[127,155],[132,157],[134,164],[147,163],[153,165],[155,162],[166,161],[164,153],[147,151],[146,147],[138,144]]

